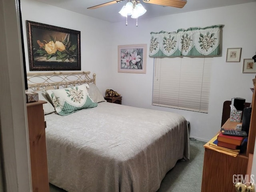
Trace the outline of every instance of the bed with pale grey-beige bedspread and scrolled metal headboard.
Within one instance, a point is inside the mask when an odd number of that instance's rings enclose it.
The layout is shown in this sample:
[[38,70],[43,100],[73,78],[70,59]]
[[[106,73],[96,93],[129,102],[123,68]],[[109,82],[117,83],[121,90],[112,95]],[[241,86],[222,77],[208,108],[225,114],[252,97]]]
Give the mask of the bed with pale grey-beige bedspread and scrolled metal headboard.
[[[176,162],[189,159],[186,119],[106,102],[96,75],[89,74],[27,74],[29,91],[48,102],[43,107],[49,182],[68,192],[156,192]],[[49,101],[52,93],[84,84],[90,108],[66,115]]]

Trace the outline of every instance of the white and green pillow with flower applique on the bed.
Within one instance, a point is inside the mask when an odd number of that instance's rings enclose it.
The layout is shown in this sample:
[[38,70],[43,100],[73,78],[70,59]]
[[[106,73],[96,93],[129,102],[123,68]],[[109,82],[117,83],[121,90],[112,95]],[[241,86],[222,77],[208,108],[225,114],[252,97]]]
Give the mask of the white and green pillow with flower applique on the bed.
[[76,110],[98,106],[89,96],[88,84],[68,87],[64,89],[46,90],[52,100],[56,112],[65,116]]

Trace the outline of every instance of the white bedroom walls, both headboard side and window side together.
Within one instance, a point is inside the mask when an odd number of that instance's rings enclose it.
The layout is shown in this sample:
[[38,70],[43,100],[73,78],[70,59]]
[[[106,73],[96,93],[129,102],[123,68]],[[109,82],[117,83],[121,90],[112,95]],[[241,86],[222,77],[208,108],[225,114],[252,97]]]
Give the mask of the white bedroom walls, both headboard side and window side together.
[[[256,52],[254,19],[256,2],[174,14],[148,20],[128,18],[128,26],[123,22],[109,23],[68,10],[36,2],[21,0],[24,34],[26,20],[51,24],[81,31],[82,70],[96,73],[97,86],[104,94],[107,88],[118,91],[123,96],[122,104],[176,112],[190,121],[190,136],[209,140],[220,129],[222,104],[233,97],[242,97],[246,102],[252,98],[252,78],[255,74],[242,74],[244,58],[251,58]],[[47,13],[47,14],[46,14]],[[150,14],[149,12],[147,14]],[[153,82],[153,59],[147,57],[146,74],[126,74],[117,72],[117,46],[125,44],[147,44],[150,32],[176,31],[192,26],[224,24],[222,55],[213,59],[210,103],[208,114],[157,107],[151,105]],[[27,39],[24,37],[25,50]],[[227,48],[242,47],[240,62],[225,62]],[[26,67],[28,52],[26,51]]]

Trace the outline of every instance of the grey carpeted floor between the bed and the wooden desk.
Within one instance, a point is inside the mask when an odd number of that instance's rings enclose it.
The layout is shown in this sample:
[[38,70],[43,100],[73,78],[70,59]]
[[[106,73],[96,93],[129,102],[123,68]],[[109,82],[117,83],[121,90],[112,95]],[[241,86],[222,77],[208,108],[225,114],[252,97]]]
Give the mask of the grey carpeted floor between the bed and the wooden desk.
[[[190,160],[178,161],[170,170],[157,192],[201,191],[205,142],[190,140]],[[50,184],[50,192],[66,192]]]

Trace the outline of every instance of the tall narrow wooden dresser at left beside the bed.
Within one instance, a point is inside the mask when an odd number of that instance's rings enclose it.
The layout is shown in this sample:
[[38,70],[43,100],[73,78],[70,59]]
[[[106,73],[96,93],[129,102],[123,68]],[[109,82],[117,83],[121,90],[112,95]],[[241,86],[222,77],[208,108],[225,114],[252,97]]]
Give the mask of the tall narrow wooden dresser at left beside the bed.
[[27,103],[28,133],[33,192],[49,192],[44,101]]

